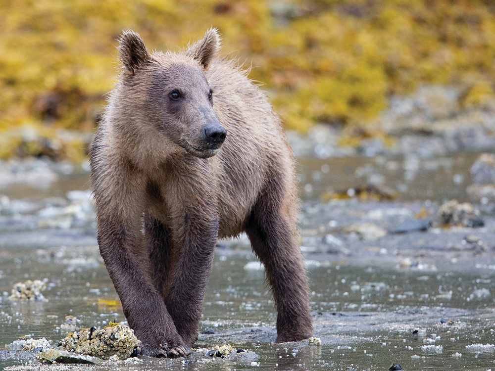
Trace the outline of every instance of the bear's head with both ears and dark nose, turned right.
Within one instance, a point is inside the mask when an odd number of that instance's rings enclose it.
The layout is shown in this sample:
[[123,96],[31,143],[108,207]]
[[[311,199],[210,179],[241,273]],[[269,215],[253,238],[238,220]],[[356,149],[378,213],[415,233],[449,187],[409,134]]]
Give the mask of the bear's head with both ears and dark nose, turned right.
[[219,48],[216,29],[208,30],[202,40],[180,53],[152,54],[138,34],[124,32],[118,49],[125,116],[131,117],[149,140],[178,145],[200,158],[215,155],[227,130],[213,109],[215,92],[205,72]]

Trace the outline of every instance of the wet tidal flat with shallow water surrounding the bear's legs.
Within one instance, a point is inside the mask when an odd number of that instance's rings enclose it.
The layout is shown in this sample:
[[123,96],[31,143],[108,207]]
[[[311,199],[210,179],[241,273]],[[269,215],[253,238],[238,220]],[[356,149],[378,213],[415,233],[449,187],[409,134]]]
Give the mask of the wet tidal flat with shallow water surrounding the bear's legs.
[[[394,232],[418,221],[434,223],[439,204],[446,199],[469,199],[469,167],[476,157],[431,160],[438,166],[430,160],[413,166],[390,158],[300,161],[305,200],[301,248],[311,282],[315,336],[321,346],[307,341],[273,343],[276,313],[271,293],[247,238],[241,236],[219,242],[200,322],[200,332],[206,333],[199,335],[196,347],[231,344],[254,356],[224,360],[195,352],[186,360],[143,357],[100,366],[41,369],[387,370],[393,363],[404,370],[492,369],[495,214],[491,201],[475,203],[484,222],[481,228],[433,224],[425,231]],[[56,344],[68,332],[56,327],[68,315],[81,321],[79,327],[125,321],[99,257],[89,194],[67,193],[87,189],[87,173],[62,170],[53,170],[55,177],[44,189],[11,182],[0,191],[1,345],[22,335],[46,337]],[[397,199],[331,196],[373,179],[393,187]],[[368,228],[350,228],[356,224]],[[47,301],[8,298],[13,284],[27,279],[45,280]],[[31,353],[0,352],[3,368],[38,370],[39,365]]]

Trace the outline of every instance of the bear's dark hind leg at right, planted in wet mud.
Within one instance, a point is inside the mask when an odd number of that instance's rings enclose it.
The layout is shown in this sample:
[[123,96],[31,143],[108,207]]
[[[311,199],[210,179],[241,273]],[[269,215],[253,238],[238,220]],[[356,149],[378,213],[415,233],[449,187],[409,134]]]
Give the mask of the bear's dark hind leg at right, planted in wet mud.
[[[272,178],[274,179],[274,178]],[[276,179],[276,178],[275,178]],[[277,342],[313,335],[308,281],[297,241],[295,202],[272,182],[247,220],[252,249],[265,266],[277,307]]]

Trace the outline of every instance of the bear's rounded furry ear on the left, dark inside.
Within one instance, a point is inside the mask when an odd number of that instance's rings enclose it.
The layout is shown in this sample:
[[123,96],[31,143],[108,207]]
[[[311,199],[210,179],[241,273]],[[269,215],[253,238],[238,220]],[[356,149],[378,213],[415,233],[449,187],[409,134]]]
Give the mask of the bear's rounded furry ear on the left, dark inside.
[[136,71],[147,63],[151,56],[143,39],[133,31],[124,31],[119,41],[120,61],[126,71],[134,76]]

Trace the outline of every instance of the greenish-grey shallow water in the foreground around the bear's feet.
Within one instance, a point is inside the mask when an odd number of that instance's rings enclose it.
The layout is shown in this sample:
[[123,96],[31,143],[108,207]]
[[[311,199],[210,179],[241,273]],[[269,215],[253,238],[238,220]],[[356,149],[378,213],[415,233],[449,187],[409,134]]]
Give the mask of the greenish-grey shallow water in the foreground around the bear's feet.
[[[65,332],[54,332],[54,329],[69,314],[81,319],[84,327],[124,320],[121,307],[99,304],[101,299],[117,300],[118,297],[103,264],[97,266],[93,261],[97,257],[96,248],[78,250],[81,264],[74,264],[71,253],[60,250],[48,255],[25,249],[4,252],[2,291],[9,291],[14,282],[28,278],[48,278],[50,287],[45,291],[48,302],[16,302],[2,297],[0,338],[3,343],[27,334],[56,342]],[[247,333],[259,331],[267,340],[274,340],[276,314],[263,271],[244,268],[254,261],[248,251],[225,254],[217,251],[200,331],[210,327],[222,340],[234,339],[230,342],[236,347],[259,355],[259,366],[215,362],[200,367],[192,364],[191,370],[345,370],[347,367],[387,370],[392,363],[399,363],[406,370],[480,370],[493,365],[493,352],[470,352],[465,347],[495,343],[491,295],[495,273],[486,272],[483,276],[425,274],[352,266],[310,269],[315,336],[323,343],[319,347],[307,346],[307,343],[273,344],[257,341],[256,336],[253,341],[249,335],[240,338],[222,335],[225,331],[245,328]],[[425,306],[434,309],[428,310]],[[441,320],[452,324],[441,324]],[[415,328],[420,329],[418,334],[413,334]],[[432,343],[443,346],[440,354],[421,349],[432,333],[440,336]],[[200,335],[197,345],[212,348],[221,343],[215,340],[215,335]],[[462,353],[462,357],[452,358],[456,352]],[[414,355],[420,358],[411,358]],[[3,367],[18,364],[14,359],[0,361]],[[151,359],[141,366],[160,368],[157,361]],[[163,366],[184,370],[178,361]]]

